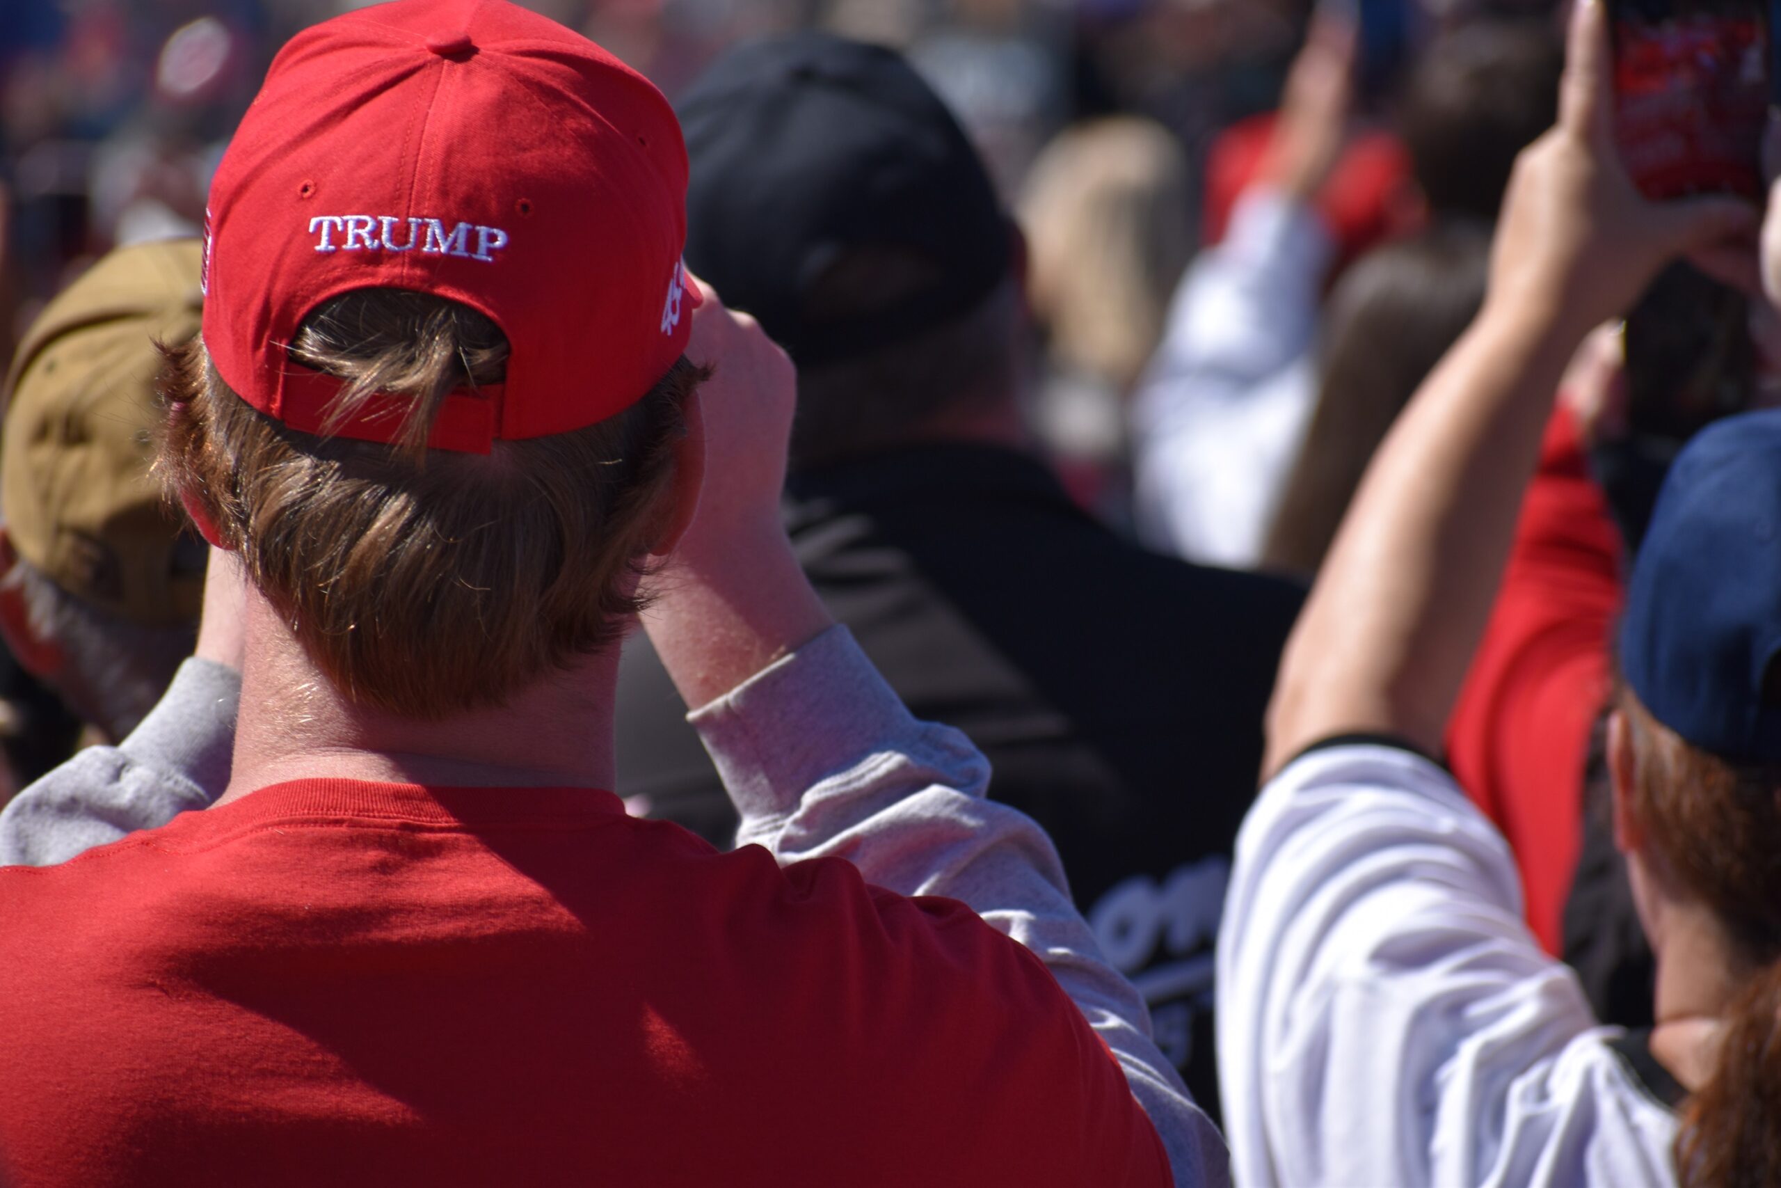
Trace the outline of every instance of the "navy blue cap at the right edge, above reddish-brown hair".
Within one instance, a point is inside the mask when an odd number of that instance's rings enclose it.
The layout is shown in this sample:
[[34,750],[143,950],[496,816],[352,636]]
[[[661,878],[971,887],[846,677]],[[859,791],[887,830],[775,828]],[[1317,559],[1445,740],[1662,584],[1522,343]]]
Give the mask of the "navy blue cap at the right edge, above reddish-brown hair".
[[1651,716],[1733,762],[1781,762],[1781,410],[1728,417],[1676,458],[1633,565],[1621,673]]

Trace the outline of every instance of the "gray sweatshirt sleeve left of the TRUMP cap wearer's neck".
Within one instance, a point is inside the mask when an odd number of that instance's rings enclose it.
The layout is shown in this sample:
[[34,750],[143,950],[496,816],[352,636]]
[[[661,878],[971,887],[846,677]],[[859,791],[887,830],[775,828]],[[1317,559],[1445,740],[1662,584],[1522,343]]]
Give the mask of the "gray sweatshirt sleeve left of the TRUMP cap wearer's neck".
[[208,809],[228,787],[240,673],[189,659],[118,746],[89,746],[0,812],[0,866],[52,866]]

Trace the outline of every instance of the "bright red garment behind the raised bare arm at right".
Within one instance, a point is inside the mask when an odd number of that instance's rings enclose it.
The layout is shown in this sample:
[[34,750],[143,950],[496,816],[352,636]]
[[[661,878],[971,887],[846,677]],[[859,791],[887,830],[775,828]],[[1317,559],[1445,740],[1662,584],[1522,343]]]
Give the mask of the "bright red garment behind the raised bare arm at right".
[[1582,837],[1589,736],[1608,693],[1619,554],[1576,420],[1560,408],[1448,723],[1453,775],[1509,837],[1528,924],[1553,953]]

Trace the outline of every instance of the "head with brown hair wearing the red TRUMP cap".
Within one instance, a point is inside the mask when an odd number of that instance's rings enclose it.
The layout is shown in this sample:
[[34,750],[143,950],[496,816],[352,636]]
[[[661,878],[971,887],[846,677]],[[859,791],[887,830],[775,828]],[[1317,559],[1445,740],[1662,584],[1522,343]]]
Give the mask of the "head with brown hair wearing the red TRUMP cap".
[[166,461],[351,700],[499,705],[636,609],[700,379],[684,187],[655,87],[509,4],[399,0],[272,62]]

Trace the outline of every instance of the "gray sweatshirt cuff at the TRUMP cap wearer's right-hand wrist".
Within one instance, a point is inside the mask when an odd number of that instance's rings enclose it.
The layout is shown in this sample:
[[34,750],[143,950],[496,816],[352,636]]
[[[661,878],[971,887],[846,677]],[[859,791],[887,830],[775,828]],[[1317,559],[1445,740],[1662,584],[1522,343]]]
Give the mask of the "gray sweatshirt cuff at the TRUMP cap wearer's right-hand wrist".
[[812,785],[919,728],[853,632],[839,625],[687,721],[744,819],[793,812]]

